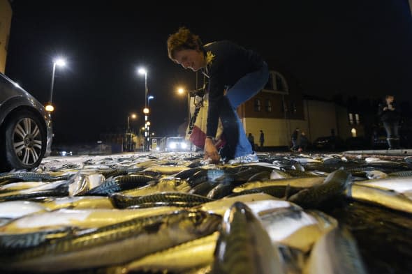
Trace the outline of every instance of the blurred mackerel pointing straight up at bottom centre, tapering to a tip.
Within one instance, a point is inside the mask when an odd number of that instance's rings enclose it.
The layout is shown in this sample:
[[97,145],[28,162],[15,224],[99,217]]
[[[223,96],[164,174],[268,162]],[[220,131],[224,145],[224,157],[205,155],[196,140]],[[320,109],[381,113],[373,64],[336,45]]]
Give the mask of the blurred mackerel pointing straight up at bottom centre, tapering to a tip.
[[246,204],[230,206],[219,232],[212,273],[284,273],[281,254]]

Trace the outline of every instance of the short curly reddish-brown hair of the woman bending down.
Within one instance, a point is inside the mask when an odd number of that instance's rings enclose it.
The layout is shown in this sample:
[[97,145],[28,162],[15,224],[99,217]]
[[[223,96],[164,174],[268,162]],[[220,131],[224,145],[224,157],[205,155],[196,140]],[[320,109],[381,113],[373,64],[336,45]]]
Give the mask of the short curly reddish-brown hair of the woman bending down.
[[199,50],[202,41],[199,36],[191,33],[189,29],[182,26],[176,33],[170,34],[168,38],[168,56],[175,61],[175,53],[180,50]]

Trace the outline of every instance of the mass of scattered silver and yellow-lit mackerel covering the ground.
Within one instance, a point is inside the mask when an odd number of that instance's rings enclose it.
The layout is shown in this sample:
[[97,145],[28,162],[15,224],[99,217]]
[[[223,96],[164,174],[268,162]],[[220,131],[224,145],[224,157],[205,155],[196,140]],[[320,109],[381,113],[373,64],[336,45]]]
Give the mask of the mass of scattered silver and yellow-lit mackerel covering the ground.
[[411,158],[258,157],[45,158],[0,174],[0,271],[412,273]]

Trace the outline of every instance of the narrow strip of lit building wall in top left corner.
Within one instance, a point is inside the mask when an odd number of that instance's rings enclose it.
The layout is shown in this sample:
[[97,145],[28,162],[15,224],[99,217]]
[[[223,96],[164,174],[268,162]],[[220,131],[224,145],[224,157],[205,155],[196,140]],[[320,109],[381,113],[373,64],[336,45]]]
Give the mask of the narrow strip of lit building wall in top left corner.
[[8,0],[0,0],[0,73],[6,70],[8,38],[10,36],[12,10]]

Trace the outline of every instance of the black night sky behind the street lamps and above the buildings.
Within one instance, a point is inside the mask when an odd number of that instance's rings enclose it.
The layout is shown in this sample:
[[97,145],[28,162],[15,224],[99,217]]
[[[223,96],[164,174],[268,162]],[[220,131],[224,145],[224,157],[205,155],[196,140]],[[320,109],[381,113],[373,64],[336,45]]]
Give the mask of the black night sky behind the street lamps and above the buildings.
[[[221,7],[223,1],[23,1],[12,3],[6,75],[39,101],[54,78],[54,144],[96,142],[122,131],[128,114],[143,125],[147,73],[150,121],[157,136],[174,135],[187,116],[196,73],[167,56],[166,40],[187,26],[204,43],[233,40],[287,68],[304,93],[330,99],[410,100],[412,20],[407,0],[265,1]],[[316,3],[312,3],[316,2]],[[175,6],[172,3],[176,3]]]

